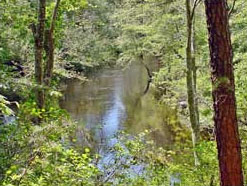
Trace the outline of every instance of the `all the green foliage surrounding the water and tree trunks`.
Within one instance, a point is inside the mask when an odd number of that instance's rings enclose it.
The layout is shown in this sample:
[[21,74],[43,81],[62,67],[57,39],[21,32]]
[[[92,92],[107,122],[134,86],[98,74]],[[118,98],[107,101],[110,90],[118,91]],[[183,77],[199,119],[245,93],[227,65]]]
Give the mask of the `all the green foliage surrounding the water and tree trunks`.
[[[55,6],[55,1],[47,2],[46,28]],[[36,21],[36,7],[37,1],[0,1],[0,114],[16,115],[13,123],[0,124],[0,185],[169,185],[172,181],[184,186],[219,185],[215,142],[211,138],[200,141],[196,149],[200,165],[194,166],[190,132],[186,125],[180,126],[189,121],[188,108],[181,106],[187,100],[186,16],[181,1],[61,0],[55,30],[56,76],[51,87],[42,87],[48,99],[45,109],[38,109],[33,101],[37,85],[33,83],[34,41],[30,24]],[[200,123],[208,129],[213,123],[212,88],[203,8],[200,5],[195,14],[195,57]],[[237,1],[230,20],[245,170],[246,12],[245,1]],[[86,145],[81,149],[74,147],[76,126],[57,106],[61,77],[77,77],[81,72],[87,75],[116,64],[127,66],[137,59],[145,64],[150,56],[159,66],[152,73],[155,98],[169,107],[149,120],[157,116],[170,124],[176,134],[172,148],[158,147],[149,141],[152,131],[136,136],[119,134],[118,143],[109,149],[108,163]],[[4,65],[13,59],[21,62],[25,77]],[[20,101],[18,114],[9,108],[15,101]],[[170,117],[171,110],[180,115]],[[37,118],[42,119],[42,124],[35,125]]]

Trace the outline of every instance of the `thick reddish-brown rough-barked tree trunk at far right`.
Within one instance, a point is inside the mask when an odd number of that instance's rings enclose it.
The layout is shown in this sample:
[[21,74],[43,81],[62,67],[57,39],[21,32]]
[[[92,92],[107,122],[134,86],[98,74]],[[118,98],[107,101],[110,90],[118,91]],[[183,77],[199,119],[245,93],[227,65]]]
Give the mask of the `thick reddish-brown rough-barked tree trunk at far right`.
[[233,52],[225,0],[205,0],[221,186],[243,186]]

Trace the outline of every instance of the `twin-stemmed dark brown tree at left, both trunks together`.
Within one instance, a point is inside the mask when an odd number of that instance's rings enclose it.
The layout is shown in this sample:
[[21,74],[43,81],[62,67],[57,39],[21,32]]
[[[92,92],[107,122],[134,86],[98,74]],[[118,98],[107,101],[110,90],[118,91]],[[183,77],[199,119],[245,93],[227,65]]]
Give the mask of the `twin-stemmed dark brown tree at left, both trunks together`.
[[[46,0],[39,0],[38,7],[38,24],[32,24],[35,48],[35,80],[38,84],[37,88],[37,103],[40,109],[45,106],[45,94],[43,86],[50,86],[53,68],[54,68],[54,32],[58,16],[58,10],[61,5],[61,0],[56,0],[51,18],[46,17]],[[73,7],[72,10],[82,8],[86,5],[86,1],[63,1],[62,9],[66,11],[68,7]],[[52,4],[51,4],[52,6]],[[69,9],[69,8],[68,8]],[[69,10],[67,10],[69,11]],[[61,16],[61,15],[60,15]],[[51,19],[49,28],[46,29],[46,19]],[[45,64],[43,64],[43,54],[45,52]]]

